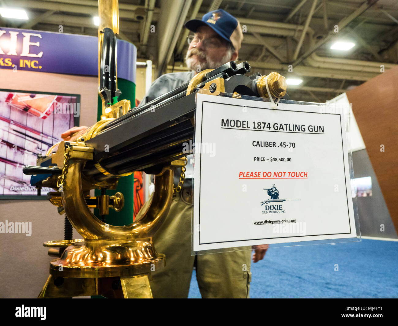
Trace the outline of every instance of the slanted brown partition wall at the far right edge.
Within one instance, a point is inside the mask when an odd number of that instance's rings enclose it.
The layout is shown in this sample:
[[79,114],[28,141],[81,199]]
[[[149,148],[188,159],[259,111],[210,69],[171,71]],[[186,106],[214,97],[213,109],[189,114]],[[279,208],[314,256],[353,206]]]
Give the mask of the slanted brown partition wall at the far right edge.
[[347,91],[347,97],[398,232],[398,66]]

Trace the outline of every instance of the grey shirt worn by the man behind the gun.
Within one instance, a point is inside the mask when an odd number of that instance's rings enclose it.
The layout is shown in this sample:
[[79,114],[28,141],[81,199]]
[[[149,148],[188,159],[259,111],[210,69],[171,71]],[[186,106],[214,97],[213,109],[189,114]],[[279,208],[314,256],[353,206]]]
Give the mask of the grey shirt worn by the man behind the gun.
[[[174,90],[175,88],[177,88],[183,84],[189,83],[191,81],[191,79],[193,78],[193,76],[195,76],[194,71],[172,72],[170,74],[164,74],[164,75],[160,76],[158,79],[156,79],[152,83],[148,92],[145,94],[144,98],[142,99],[142,102],[138,105],[138,107],[154,100],[155,98],[157,98],[159,96],[162,96],[162,95]],[[192,155],[189,155],[188,163],[186,166],[187,172],[193,170],[191,158],[192,158]],[[187,173],[185,173],[185,174],[187,175]],[[181,175],[181,168],[177,168],[174,171],[174,185],[178,185],[180,175]],[[186,180],[183,184],[183,187],[191,187],[191,185],[192,185],[191,179],[186,178]]]

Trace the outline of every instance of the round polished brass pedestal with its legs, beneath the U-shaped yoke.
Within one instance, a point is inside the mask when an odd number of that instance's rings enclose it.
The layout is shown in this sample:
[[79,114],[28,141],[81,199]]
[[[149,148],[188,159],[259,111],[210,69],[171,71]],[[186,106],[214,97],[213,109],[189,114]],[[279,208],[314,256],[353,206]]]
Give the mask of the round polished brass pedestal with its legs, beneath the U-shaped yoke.
[[50,263],[39,298],[152,298],[150,271],[163,268],[165,261],[150,238],[76,242]]

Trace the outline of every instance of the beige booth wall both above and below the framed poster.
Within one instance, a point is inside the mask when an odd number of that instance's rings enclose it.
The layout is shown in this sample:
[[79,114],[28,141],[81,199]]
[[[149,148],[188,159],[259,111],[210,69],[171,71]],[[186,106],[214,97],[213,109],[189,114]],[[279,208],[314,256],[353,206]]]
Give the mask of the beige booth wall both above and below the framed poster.
[[[6,69],[0,76],[1,89],[80,94],[80,125],[97,121],[98,77]],[[0,297],[37,297],[54,259],[43,242],[63,239],[64,215],[47,200],[0,200],[0,221],[5,220],[31,222],[32,230],[31,236],[0,234]]]

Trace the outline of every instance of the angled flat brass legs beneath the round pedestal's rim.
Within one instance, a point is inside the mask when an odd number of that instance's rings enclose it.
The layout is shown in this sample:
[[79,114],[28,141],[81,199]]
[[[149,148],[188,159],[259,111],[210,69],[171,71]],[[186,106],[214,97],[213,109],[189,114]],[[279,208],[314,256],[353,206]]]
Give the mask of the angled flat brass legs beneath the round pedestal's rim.
[[57,277],[50,275],[38,298],[102,295],[105,298],[151,299],[149,274],[119,277]]

